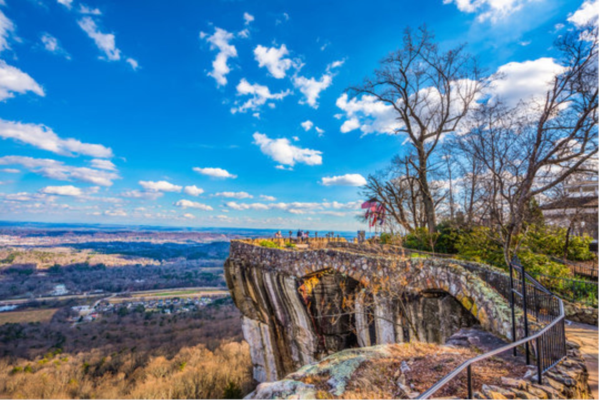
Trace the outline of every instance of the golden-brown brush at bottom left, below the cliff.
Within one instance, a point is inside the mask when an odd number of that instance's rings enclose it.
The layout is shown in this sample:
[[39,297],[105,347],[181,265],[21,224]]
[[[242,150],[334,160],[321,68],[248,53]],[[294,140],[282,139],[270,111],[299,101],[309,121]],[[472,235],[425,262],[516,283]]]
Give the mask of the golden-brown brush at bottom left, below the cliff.
[[59,354],[28,362],[0,360],[2,398],[210,399],[228,385],[252,389],[247,343],[216,350],[184,347],[171,359],[151,357],[140,365],[135,353],[104,356],[97,351]]

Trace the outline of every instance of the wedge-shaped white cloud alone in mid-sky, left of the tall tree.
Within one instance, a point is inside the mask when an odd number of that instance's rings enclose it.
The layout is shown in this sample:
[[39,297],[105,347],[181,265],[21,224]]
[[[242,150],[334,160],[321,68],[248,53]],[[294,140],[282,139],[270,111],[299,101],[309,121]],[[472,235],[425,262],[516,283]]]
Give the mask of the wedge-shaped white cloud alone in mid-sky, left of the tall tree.
[[301,149],[293,146],[286,138],[271,139],[267,135],[256,132],[253,134],[254,144],[260,147],[262,153],[271,157],[281,165],[294,166],[295,163],[306,165],[322,164],[322,151]]

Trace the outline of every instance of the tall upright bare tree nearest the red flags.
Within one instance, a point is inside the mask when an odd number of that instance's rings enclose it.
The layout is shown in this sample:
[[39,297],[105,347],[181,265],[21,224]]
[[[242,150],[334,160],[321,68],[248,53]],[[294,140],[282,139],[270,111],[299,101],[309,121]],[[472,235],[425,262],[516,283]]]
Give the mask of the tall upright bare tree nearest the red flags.
[[476,101],[482,83],[476,60],[464,46],[441,51],[423,26],[406,29],[403,47],[381,61],[373,78],[350,88],[353,96],[370,95],[393,107],[400,125],[395,134],[409,138],[416,157],[418,187],[426,226],[435,231],[435,199],[429,182],[429,159],[444,135],[458,128]]

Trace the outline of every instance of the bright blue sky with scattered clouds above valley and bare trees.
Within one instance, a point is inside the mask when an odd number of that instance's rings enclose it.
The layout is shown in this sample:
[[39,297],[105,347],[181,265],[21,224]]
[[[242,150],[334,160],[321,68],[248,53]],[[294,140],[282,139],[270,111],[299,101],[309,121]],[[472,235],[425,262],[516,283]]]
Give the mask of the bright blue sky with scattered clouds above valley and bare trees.
[[0,0],[0,220],[353,230],[406,151],[344,90],[426,23],[542,91],[597,0]]

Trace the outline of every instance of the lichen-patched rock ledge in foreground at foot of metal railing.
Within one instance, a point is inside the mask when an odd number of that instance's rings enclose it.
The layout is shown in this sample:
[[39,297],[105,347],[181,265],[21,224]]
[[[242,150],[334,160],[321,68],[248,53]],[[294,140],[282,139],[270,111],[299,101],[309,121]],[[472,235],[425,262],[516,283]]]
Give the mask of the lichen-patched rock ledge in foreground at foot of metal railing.
[[[420,395],[417,377],[421,368],[417,360],[425,355],[419,346],[391,344],[343,350],[305,365],[283,380],[259,384],[247,398],[416,398]],[[434,351],[434,355],[426,357],[435,357],[440,365],[447,361],[459,363],[470,354],[451,346],[425,350]],[[478,365],[473,370],[477,368],[483,367]],[[568,357],[543,375],[542,384],[537,383],[535,366],[494,360],[483,369],[492,374],[488,377],[492,383],[477,382],[474,372],[475,399],[585,399],[590,395],[585,363],[571,345]],[[441,378],[445,371],[439,371]],[[464,381],[455,380],[447,385],[442,396],[464,398],[464,390]]]

